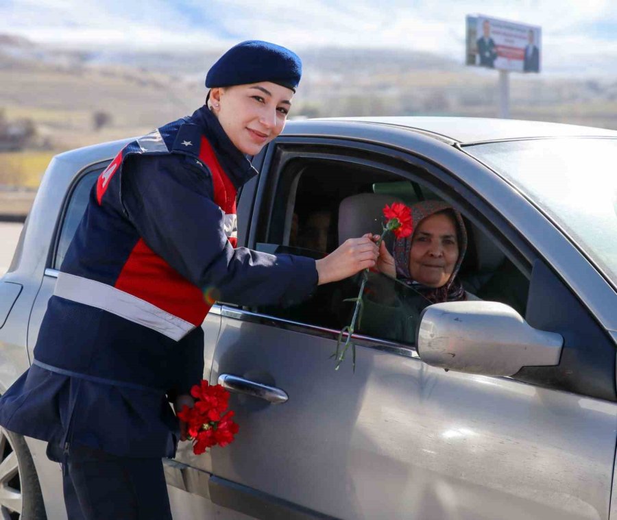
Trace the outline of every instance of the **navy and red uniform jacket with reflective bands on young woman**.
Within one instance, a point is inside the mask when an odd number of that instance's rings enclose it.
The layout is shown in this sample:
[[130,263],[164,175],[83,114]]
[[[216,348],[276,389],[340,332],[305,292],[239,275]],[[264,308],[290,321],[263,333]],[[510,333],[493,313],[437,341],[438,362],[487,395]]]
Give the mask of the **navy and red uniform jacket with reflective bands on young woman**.
[[237,189],[254,175],[205,107],[127,145],[90,194],[0,424],[119,456],[173,456],[169,399],[202,378],[213,301],[285,306],[317,284],[314,260],[235,248]]

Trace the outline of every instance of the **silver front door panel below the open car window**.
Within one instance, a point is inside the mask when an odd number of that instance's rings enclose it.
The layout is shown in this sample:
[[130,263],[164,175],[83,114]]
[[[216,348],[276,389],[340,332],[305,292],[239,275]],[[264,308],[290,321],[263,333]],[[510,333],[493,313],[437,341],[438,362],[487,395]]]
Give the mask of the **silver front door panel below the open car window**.
[[608,517],[616,404],[367,347],[335,371],[333,338],[229,314],[210,381],[261,374],[289,401],[232,397],[217,477],[341,519]]

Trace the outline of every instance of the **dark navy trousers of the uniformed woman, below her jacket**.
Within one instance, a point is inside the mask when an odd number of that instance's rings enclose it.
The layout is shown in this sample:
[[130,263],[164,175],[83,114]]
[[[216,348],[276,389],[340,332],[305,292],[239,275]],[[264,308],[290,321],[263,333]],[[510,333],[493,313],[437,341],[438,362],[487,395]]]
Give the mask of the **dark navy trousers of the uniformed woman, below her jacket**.
[[62,462],[69,520],[171,520],[160,458],[118,457],[75,444],[66,456],[50,444],[47,456]]

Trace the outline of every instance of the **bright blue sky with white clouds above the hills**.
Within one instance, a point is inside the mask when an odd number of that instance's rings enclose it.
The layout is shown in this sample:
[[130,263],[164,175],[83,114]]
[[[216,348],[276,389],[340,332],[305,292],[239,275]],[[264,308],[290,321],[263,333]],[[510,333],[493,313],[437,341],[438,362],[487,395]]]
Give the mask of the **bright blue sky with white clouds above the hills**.
[[429,51],[462,62],[472,13],[540,25],[546,73],[617,75],[616,0],[0,0],[0,34],[81,49],[187,53],[263,39],[296,50]]

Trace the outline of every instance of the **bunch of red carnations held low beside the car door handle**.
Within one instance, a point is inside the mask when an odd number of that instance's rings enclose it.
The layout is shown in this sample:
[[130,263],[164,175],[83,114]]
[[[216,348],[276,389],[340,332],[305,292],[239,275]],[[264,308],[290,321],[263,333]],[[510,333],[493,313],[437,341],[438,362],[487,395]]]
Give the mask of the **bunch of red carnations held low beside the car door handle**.
[[220,384],[210,385],[202,380],[191,388],[191,395],[195,398],[195,405],[193,408],[184,405],[178,418],[188,424],[193,453],[199,455],[210,447],[224,447],[231,443],[240,427],[232,421],[234,412],[227,410],[229,392]]

